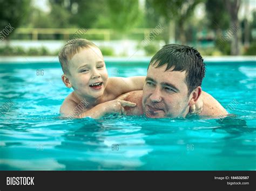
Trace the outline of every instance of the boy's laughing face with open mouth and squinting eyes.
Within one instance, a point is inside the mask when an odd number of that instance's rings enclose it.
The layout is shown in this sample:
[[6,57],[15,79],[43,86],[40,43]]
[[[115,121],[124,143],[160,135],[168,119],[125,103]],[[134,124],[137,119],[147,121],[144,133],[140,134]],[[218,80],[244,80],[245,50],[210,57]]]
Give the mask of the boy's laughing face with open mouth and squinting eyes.
[[98,98],[107,85],[107,70],[98,47],[81,49],[70,60],[69,81],[81,97]]

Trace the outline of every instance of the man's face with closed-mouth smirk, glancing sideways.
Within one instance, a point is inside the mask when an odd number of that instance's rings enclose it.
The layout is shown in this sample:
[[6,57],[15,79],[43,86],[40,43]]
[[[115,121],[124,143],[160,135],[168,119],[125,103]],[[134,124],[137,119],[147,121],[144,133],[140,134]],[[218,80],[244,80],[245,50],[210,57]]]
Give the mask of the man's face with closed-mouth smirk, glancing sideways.
[[166,64],[149,67],[143,87],[143,111],[149,118],[185,117],[189,111],[185,72],[165,71]]

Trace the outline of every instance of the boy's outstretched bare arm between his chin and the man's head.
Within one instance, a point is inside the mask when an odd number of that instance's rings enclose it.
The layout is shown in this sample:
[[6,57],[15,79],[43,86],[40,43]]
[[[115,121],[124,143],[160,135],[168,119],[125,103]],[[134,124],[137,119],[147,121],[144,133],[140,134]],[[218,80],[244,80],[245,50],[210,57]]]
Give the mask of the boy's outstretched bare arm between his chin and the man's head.
[[120,90],[120,94],[142,90],[145,82],[145,76],[135,76],[129,78],[113,77],[111,79],[111,85]]

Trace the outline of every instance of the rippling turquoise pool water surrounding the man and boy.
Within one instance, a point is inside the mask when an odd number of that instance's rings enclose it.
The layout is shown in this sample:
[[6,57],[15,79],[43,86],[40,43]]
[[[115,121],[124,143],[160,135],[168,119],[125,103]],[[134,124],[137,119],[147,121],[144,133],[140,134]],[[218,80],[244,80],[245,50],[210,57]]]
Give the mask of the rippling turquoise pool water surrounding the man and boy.
[[[148,65],[106,64],[110,77]],[[255,170],[255,61],[206,64],[203,90],[235,117],[61,120],[58,63],[0,64],[0,170]]]

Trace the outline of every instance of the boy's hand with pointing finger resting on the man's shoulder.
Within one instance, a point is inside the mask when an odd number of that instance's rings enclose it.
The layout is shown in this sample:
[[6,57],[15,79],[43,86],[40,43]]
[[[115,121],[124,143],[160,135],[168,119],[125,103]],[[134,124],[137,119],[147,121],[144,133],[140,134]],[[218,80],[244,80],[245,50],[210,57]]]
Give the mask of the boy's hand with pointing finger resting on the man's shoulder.
[[105,114],[113,114],[113,113],[126,114],[125,109],[124,109],[125,106],[135,107],[136,106],[135,103],[124,100],[129,95],[130,95],[129,93],[126,93],[115,100],[107,101],[106,103],[104,103]]

